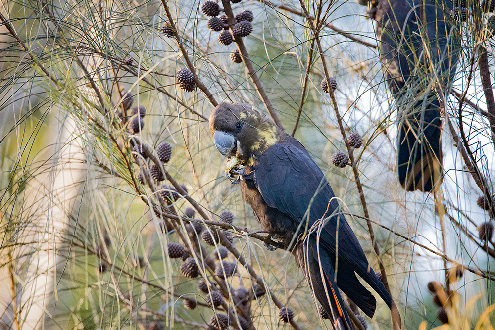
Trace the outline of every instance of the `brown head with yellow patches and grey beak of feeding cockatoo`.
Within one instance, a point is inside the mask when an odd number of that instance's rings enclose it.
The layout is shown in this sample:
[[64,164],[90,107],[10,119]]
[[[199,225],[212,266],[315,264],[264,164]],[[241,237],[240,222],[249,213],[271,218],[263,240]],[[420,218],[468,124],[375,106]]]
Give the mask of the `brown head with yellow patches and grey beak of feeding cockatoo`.
[[282,133],[273,121],[249,104],[229,103],[213,109],[210,131],[220,153],[229,158],[236,156],[247,165],[277,143]]

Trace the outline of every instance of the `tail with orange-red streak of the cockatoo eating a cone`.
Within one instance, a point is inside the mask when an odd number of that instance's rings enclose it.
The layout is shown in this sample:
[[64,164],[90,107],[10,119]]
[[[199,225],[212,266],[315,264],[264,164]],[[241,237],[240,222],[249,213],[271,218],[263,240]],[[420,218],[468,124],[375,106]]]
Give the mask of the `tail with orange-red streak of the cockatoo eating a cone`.
[[292,250],[297,265],[304,273],[316,299],[333,320],[334,330],[352,330],[346,305],[335,283],[335,272],[330,256],[324,250],[319,252],[320,257],[318,257],[316,240],[308,236],[304,240],[299,240]]

